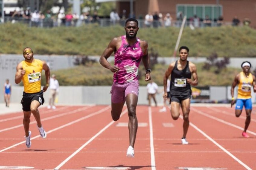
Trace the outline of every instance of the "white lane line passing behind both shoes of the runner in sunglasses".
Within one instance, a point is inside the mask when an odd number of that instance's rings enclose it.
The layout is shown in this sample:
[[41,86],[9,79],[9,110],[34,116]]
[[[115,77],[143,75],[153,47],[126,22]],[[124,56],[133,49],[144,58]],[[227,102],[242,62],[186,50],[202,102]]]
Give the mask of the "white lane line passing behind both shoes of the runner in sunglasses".
[[[52,130],[50,130],[50,131],[47,131],[47,134],[52,133],[53,131],[59,130],[59,129],[61,129],[61,128],[64,128],[64,127],[66,127],[66,126],[72,125],[72,124],[74,124],[74,123],[80,122],[80,121],[82,121],[82,120],[84,120],[84,119],[87,119],[87,118],[89,118],[89,117],[91,117],[91,116],[95,116],[95,115],[97,115],[97,114],[99,114],[99,113],[104,112],[105,110],[107,110],[107,109],[109,109],[109,108],[110,108],[110,106],[107,106],[107,107],[105,107],[105,108],[103,108],[103,109],[101,109],[101,110],[98,110],[97,112],[91,113],[91,114],[89,114],[89,115],[87,115],[87,116],[84,116],[84,117],[82,117],[82,118],[79,118],[79,119],[77,119],[77,120],[74,120],[74,121],[72,121],[72,122],[69,122],[69,123],[67,123],[67,124],[65,124],[65,125],[59,126],[58,128],[52,129]],[[79,109],[78,109],[78,110],[79,110]],[[83,110],[83,109],[82,109],[82,110]],[[74,113],[74,111],[72,111],[72,112]],[[37,136],[35,136],[35,137],[33,137],[33,138],[30,138],[30,140],[35,139],[35,138],[38,138],[38,137],[41,137],[41,136],[40,136],[40,135],[37,135]],[[20,144],[24,144],[25,142],[26,142],[26,141],[24,140],[24,141],[22,141],[22,142],[20,142],[20,143],[18,143],[18,144],[14,144],[14,145],[12,145],[12,146],[10,146],[10,147],[7,147],[7,148],[5,148],[5,149],[2,149],[2,150],[0,150],[0,153],[3,152],[3,151],[5,151],[5,150],[11,149],[11,148],[13,148],[13,147],[16,147],[16,146],[18,146],[18,145],[20,145]]]

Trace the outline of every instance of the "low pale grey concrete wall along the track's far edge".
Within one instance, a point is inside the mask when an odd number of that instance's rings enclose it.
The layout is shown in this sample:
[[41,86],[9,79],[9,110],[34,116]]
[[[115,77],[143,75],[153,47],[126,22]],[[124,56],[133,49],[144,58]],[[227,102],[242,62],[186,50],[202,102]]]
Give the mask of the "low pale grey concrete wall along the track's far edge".
[[[58,104],[111,104],[111,86],[61,86],[59,88]],[[159,91],[163,87],[159,86]],[[235,90],[236,92],[236,90]],[[11,102],[19,103],[22,98],[23,87],[14,86],[12,89]],[[44,93],[45,104],[48,105],[50,91]],[[158,105],[163,104],[162,92],[156,95]],[[235,93],[235,96],[237,94]],[[211,86],[210,100],[230,100],[230,86]],[[252,101],[255,101],[255,93],[252,92]],[[154,102],[151,102],[154,105]],[[148,104],[146,86],[139,87],[138,104]]]

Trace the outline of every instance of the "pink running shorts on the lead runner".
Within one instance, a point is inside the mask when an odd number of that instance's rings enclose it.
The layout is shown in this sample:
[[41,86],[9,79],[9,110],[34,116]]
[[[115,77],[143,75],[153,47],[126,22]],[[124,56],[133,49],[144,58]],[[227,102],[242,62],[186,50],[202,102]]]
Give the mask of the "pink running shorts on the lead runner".
[[139,81],[132,81],[124,84],[119,84],[113,82],[111,88],[111,102],[112,103],[123,103],[125,102],[125,97],[129,93],[133,93],[136,96],[139,94]]

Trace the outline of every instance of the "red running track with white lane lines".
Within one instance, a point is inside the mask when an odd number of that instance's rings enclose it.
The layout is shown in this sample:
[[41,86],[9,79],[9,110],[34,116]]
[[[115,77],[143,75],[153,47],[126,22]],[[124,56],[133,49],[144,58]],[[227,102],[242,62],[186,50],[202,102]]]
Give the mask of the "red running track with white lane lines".
[[191,106],[188,145],[181,144],[182,116],[174,121],[160,107],[137,107],[135,158],[129,146],[126,107],[117,122],[110,106],[40,108],[47,138],[40,137],[34,117],[27,149],[23,113],[0,115],[0,169],[256,169],[256,119],[243,138],[245,112],[235,117],[230,105]]

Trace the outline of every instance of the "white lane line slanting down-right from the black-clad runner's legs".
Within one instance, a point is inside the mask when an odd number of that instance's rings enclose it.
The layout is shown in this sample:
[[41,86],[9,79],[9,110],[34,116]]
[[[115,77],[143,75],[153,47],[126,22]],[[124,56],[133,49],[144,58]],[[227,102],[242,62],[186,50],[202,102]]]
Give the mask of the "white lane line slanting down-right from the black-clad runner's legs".
[[[191,109],[191,108],[190,108]],[[193,109],[192,110],[196,110]],[[198,110],[199,111],[199,110]],[[201,112],[201,111],[199,111]],[[198,113],[198,112],[197,112]],[[200,113],[202,114],[202,113]],[[206,113],[203,114],[204,116],[206,116]],[[182,117],[182,116],[180,116]],[[212,116],[213,117],[213,116]],[[193,128],[195,128],[197,131],[199,131],[201,134],[203,134],[203,136],[205,136],[207,139],[209,139],[211,142],[213,142],[217,147],[219,147],[221,150],[223,150],[226,154],[228,154],[229,156],[231,156],[233,159],[235,159],[238,163],[240,163],[243,167],[245,167],[247,170],[252,170],[248,165],[246,165],[244,162],[242,162],[240,159],[238,159],[237,157],[235,157],[232,153],[230,153],[228,150],[226,150],[224,147],[222,147],[220,144],[218,144],[216,141],[214,141],[210,136],[208,136],[206,133],[204,133],[201,129],[199,129],[196,125],[194,125],[193,123],[189,123]]]

